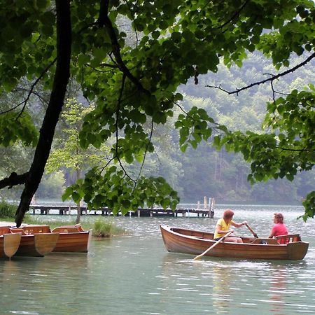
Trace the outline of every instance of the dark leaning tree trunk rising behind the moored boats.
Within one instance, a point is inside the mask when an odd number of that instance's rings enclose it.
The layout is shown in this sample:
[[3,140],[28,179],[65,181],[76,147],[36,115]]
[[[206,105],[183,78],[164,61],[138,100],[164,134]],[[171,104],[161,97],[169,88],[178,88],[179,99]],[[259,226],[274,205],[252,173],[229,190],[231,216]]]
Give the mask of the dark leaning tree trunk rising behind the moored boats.
[[50,154],[52,139],[55,134],[55,127],[59,120],[59,114],[64,105],[64,96],[66,86],[70,76],[71,59],[71,18],[70,18],[70,0],[56,0],[57,12],[57,64],[55,78],[52,85],[52,92],[48,109],[41,125],[38,144],[34,155],[34,160],[29,169],[25,188],[21,195],[20,204],[15,214],[15,223],[19,227],[29,209],[31,198],[36,192],[46,162]]

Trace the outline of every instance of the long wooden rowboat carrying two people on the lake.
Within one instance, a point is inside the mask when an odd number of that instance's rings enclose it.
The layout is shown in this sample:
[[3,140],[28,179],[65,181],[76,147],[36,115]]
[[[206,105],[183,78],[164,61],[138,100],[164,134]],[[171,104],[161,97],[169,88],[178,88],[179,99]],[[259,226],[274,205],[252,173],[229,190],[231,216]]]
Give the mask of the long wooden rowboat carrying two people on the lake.
[[[172,228],[160,225],[167,251],[199,255],[215,244],[214,234],[197,230]],[[279,239],[288,239],[288,244],[279,244]],[[254,239],[242,237],[244,243],[221,241],[207,256],[245,259],[301,260],[307,253],[309,244],[301,241],[300,235],[282,235],[276,239]]]

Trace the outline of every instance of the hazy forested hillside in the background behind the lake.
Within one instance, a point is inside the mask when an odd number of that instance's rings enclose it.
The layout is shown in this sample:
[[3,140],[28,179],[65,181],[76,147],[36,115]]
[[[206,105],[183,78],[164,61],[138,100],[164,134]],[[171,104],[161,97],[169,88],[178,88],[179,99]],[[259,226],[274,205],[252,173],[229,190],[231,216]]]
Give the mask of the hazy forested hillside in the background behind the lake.
[[[293,64],[300,60],[295,58]],[[232,66],[226,69],[221,66],[213,75],[200,76],[199,85],[189,80],[186,85],[179,87],[179,92],[184,95],[181,106],[189,111],[193,106],[205,109],[216,121],[227,125],[232,130],[260,130],[265,115],[266,102],[270,97],[270,89],[265,86],[245,92],[244,94],[227,95],[225,92],[207,87],[212,85],[248,85],[257,80],[261,73],[267,73],[268,62],[262,55],[252,54],[244,65],[239,68]],[[314,69],[314,66],[311,67]],[[276,85],[276,90],[290,91],[293,88],[300,89],[307,82],[314,82],[311,69],[300,69],[281,83]],[[71,164],[70,155],[75,155],[76,136],[80,132],[83,117],[89,111],[89,104],[83,98],[78,88],[73,89],[72,99],[66,106],[62,120],[57,125],[57,138],[52,146],[51,158],[48,160],[43,181],[36,192],[37,200],[59,200],[67,186],[76,182],[75,162]],[[3,104],[3,102],[2,102]],[[255,104],[255,106],[253,106]],[[4,105],[2,105],[4,106]],[[32,120],[38,121],[42,115],[41,104],[34,104]],[[73,119],[66,119],[71,114],[76,116],[76,129],[72,130]],[[80,118],[81,117],[81,118]],[[146,174],[148,176],[163,176],[171,186],[179,192],[181,202],[196,203],[203,200],[204,196],[215,197],[219,203],[253,203],[253,204],[301,204],[302,199],[309,190],[314,187],[315,173],[302,172],[297,175],[295,181],[277,179],[267,183],[255,183],[251,185],[247,181],[250,173],[249,163],[244,162],[241,155],[228,153],[225,150],[216,151],[216,148],[203,141],[196,149],[188,148],[183,153],[179,148],[179,134],[174,129],[176,117],[163,126],[155,128],[153,143],[156,153],[147,160]],[[69,138],[69,130],[72,130],[73,138]],[[71,133],[71,132],[70,132]],[[66,150],[60,148],[67,147]],[[103,148],[106,151],[106,148]],[[104,153],[103,151],[103,153]],[[10,174],[16,165],[12,161],[19,161],[19,165],[29,165],[31,150],[20,146],[10,148],[0,147],[0,152],[6,160],[1,165],[1,174]],[[80,151],[76,155],[80,165],[82,177],[90,165],[95,163],[92,159],[87,163],[87,157],[92,155],[92,149]],[[94,151],[94,159],[97,154]],[[85,162],[83,162],[85,161]],[[56,165],[57,162],[57,165]],[[21,169],[21,172],[22,169]],[[8,199],[18,199],[20,189],[0,190],[0,196]]]

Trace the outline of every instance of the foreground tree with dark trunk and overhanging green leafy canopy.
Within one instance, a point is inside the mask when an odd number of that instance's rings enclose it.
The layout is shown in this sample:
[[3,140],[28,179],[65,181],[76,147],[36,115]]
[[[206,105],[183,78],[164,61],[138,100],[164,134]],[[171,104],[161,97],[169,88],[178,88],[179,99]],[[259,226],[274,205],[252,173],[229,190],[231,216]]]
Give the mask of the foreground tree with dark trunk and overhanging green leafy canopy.
[[[18,224],[41,181],[70,75],[80,84],[84,97],[95,104],[85,116],[80,146],[112,146],[106,165],[87,172],[85,180],[69,188],[66,196],[73,200],[84,196],[89,207],[108,206],[115,212],[144,203],[174,209],[179,198],[166,181],[144,177],[142,167],[131,176],[125,165],[143,163],[155,151],[151,141],[154,127],[165,125],[174,116],[175,107],[183,109],[178,87],[190,78],[198,83],[200,75],[216,73],[221,61],[228,68],[242,66],[253,51],[269,57],[275,70],[291,66],[291,55],[304,56],[294,69],[272,74],[264,81],[272,85],[315,56],[315,8],[314,1],[309,0],[83,0],[71,1],[71,6],[69,0],[3,0],[1,4],[1,89],[11,92],[21,78],[27,78],[30,93],[38,81],[51,91],[27,180],[25,176],[10,179],[10,185],[25,181]],[[134,41],[127,38],[122,26],[125,22],[129,22]],[[255,79],[253,73],[248,76]],[[216,88],[223,90],[218,85]],[[234,92],[246,89],[237,87]],[[181,150],[209,141],[216,148],[244,155],[251,162],[251,181],[292,180],[297,170],[309,170],[314,165],[309,123],[303,125],[302,134],[296,129],[302,117],[314,123],[313,107],[304,106],[312,102],[309,89],[279,99],[272,90],[274,102],[268,106],[265,121],[271,132],[264,130],[265,134],[228,130],[204,109],[183,110],[176,122]],[[28,99],[29,94],[20,103],[21,113]],[[268,123],[270,119],[276,123]],[[151,126],[149,130],[146,124]],[[29,123],[26,128],[30,131]],[[6,132],[6,137],[8,144],[25,140],[21,132],[13,132],[12,139]],[[30,144],[35,135],[29,132],[27,139]]]

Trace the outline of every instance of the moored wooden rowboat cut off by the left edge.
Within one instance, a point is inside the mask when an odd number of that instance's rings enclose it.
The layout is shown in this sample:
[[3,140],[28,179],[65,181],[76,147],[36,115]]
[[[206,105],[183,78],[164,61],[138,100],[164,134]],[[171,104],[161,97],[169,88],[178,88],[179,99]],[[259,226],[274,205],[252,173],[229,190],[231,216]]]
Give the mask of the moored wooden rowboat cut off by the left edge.
[[10,228],[0,228],[0,258],[11,258],[20,246],[22,233],[11,233]]

